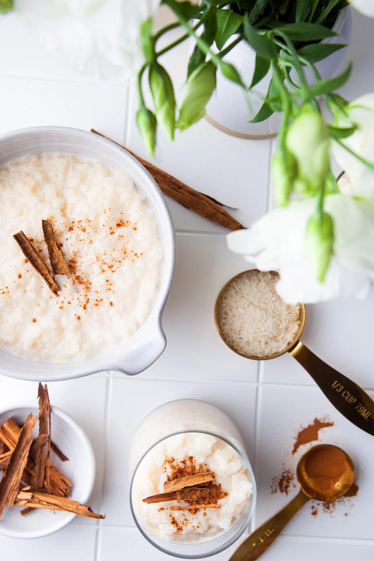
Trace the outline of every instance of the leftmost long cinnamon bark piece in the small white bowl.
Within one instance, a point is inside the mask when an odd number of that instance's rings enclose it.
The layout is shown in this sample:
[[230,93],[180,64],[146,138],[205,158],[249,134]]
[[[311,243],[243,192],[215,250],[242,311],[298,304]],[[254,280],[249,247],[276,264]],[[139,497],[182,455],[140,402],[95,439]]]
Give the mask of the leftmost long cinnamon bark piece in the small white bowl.
[[27,417],[21,429],[16,447],[12,450],[10,460],[0,481],[0,517],[5,505],[11,507],[19,493],[22,473],[26,467],[27,456],[29,455],[31,443],[33,442],[31,435],[37,420],[38,417],[34,417],[31,413]]

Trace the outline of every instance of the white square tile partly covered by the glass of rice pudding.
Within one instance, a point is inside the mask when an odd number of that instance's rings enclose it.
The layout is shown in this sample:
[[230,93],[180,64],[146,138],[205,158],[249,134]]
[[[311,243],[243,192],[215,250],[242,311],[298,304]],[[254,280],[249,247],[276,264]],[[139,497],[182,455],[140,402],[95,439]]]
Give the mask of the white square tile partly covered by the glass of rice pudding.
[[[189,383],[168,380],[142,380],[116,376],[107,435],[107,471],[105,473],[104,525],[135,526],[128,505],[128,450],[142,419],[167,401],[201,399],[220,407],[232,418],[243,435],[250,461],[255,442],[256,384],[230,382]],[[124,403],[127,405],[124,406]],[[132,404],[132,406],[131,406]]]

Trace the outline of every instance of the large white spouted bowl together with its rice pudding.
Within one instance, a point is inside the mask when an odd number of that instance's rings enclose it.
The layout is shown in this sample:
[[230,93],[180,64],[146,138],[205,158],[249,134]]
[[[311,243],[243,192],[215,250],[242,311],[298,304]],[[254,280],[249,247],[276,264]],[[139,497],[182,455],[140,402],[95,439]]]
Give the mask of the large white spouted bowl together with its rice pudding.
[[[46,380],[109,369],[135,374],[165,347],[160,320],[175,260],[167,205],[145,169],[112,142],[40,130],[41,141],[31,134],[31,150],[22,143],[18,158],[14,142],[10,157],[0,152],[0,372],[35,379],[43,365]],[[53,268],[45,221],[67,274]],[[13,240],[21,233],[56,291]],[[23,366],[33,377],[19,375]]]

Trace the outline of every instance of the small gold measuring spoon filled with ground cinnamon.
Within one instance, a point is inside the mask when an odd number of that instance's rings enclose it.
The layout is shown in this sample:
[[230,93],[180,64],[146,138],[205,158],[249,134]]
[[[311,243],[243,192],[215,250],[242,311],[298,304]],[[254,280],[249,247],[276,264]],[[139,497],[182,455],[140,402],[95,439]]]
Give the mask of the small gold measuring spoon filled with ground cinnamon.
[[[336,470],[331,473],[329,483],[323,473],[318,475],[313,470],[312,463],[321,460],[329,462],[329,457],[338,460]],[[331,467],[329,468],[331,471]],[[246,541],[239,546],[229,561],[255,561],[279,536],[285,525],[301,507],[310,499],[335,500],[347,493],[354,480],[353,462],[344,450],[331,444],[313,446],[299,459],[297,465],[297,479],[300,485],[299,494],[292,499],[281,511],[269,518],[260,528],[257,528]]]

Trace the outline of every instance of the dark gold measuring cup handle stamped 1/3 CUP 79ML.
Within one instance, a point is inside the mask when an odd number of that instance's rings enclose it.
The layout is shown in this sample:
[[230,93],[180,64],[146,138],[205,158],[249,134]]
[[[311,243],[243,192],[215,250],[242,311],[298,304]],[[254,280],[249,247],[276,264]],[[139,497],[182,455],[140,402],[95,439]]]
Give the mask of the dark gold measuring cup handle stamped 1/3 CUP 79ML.
[[344,417],[374,436],[374,401],[358,384],[318,358],[301,341],[288,351]]

